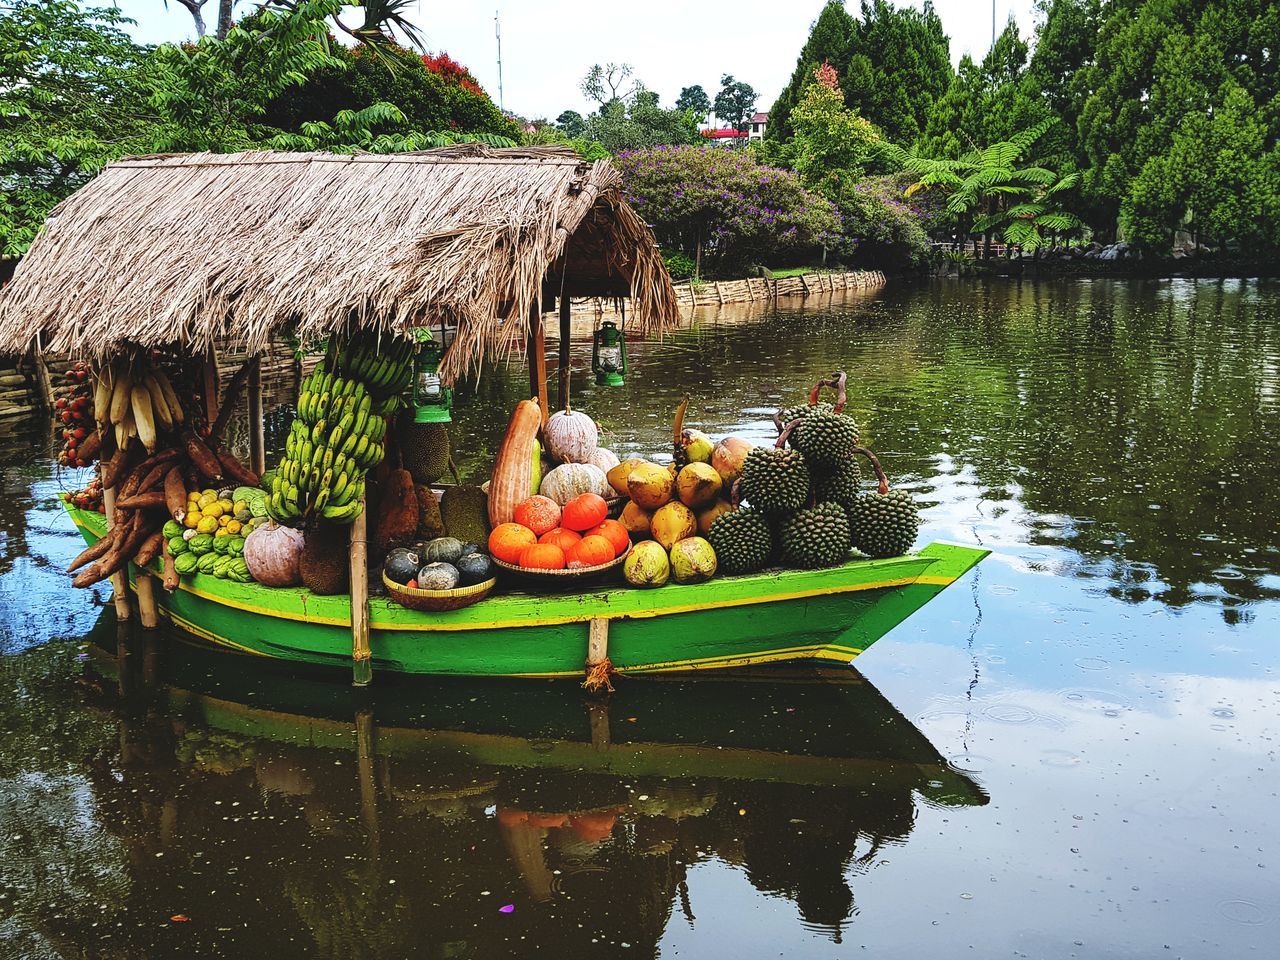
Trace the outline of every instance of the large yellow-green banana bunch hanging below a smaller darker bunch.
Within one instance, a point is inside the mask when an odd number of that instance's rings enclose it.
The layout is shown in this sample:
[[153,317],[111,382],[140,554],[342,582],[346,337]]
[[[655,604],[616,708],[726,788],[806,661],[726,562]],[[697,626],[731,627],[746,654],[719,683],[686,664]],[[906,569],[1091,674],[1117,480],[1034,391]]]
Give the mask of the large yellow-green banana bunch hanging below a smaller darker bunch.
[[320,516],[349,524],[360,516],[365,474],[383,460],[387,419],[364,383],[324,370],[302,384],[298,416],[284,442],[266,498],[273,520]]

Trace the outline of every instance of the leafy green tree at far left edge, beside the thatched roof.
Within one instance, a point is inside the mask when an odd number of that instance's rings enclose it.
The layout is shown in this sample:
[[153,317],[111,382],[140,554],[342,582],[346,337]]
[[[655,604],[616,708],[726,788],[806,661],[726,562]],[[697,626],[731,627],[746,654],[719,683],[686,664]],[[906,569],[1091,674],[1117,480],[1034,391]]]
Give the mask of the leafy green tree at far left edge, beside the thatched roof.
[[15,0],[0,18],[0,248],[20,255],[49,210],[124,154],[147,152],[147,51],[114,9]]

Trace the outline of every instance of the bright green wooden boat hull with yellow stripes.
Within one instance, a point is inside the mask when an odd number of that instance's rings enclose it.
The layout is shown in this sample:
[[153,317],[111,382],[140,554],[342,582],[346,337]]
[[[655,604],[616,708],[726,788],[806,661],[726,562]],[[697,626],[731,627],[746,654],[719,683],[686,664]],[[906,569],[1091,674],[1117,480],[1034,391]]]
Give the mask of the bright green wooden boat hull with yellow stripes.
[[[87,543],[99,513],[69,508]],[[581,677],[591,621],[609,625],[608,655],[623,675],[707,671],[759,663],[851,663],[987,556],[933,543],[916,554],[850,561],[637,590],[507,591],[447,613],[369,600],[378,671],[419,675]],[[137,571],[131,571],[131,579]],[[243,653],[349,668],[351,598],[201,576],[159,591],[172,623]]]

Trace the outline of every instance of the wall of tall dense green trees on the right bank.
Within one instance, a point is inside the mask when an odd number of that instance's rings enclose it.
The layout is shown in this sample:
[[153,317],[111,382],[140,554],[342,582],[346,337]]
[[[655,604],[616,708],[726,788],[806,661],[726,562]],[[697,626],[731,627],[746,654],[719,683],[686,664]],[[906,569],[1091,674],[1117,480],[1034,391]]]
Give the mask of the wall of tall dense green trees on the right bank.
[[[1010,22],[980,63],[964,56],[952,72],[928,4],[864,0],[854,13],[832,0],[773,106],[768,155],[797,170],[827,164],[828,178],[854,169],[799,143],[796,113],[829,64],[845,106],[897,146],[882,154],[891,165],[941,174],[920,161],[952,163],[955,183],[928,184],[950,193],[937,228],[989,228],[1034,247],[1082,227],[1079,215],[1100,239],[1160,253],[1189,238],[1228,252],[1280,247],[1276,4],[1039,0],[1037,13],[1034,37]],[[1039,136],[1019,163],[1051,178],[980,173],[982,156],[1029,132]],[[861,134],[847,140],[860,150]],[[993,178],[988,196],[957,191],[970,177]]]

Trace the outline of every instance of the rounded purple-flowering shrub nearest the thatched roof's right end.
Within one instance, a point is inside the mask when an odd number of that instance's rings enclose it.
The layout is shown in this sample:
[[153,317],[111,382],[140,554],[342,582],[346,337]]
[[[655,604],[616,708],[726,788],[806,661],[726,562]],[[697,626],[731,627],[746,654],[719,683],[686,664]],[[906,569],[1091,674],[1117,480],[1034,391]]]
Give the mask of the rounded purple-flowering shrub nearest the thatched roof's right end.
[[831,202],[740,151],[659,146],[623,151],[617,165],[663,248],[696,256],[700,247],[718,269],[794,260],[840,233]]

